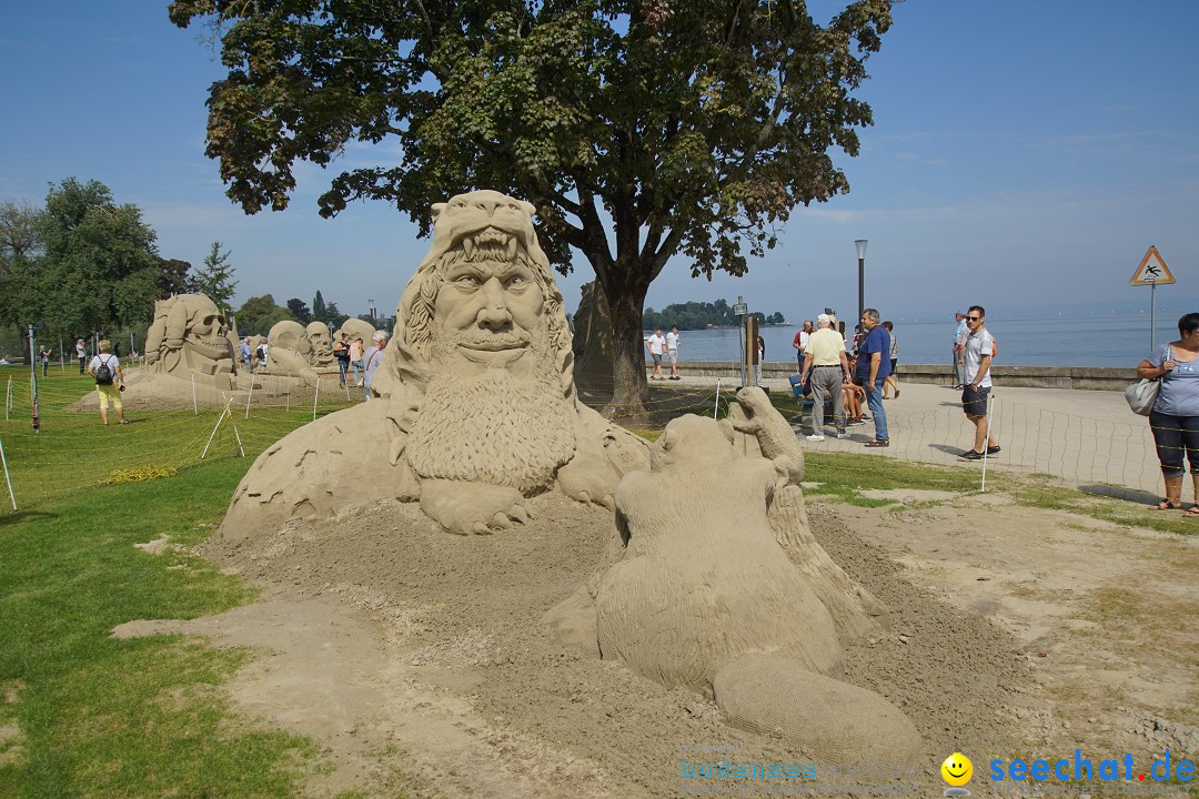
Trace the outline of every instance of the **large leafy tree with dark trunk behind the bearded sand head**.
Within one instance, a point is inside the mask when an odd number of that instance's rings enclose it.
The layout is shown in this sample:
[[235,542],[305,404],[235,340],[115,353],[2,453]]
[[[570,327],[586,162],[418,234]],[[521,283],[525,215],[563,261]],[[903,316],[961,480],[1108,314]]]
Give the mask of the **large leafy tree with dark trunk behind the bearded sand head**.
[[829,153],[857,155],[872,121],[850,92],[891,0],[827,25],[803,0],[176,0],[170,18],[219,37],[207,153],[242,208],[285,207],[297,161],[385,139],[400,162],[341,172],[321,214],[381,199],[427,231],[457,192],[532,200],[555,265],[577,248],[608,295],[614,405],[635,410],[668,260],[743,274],[796,205],[848,190]]

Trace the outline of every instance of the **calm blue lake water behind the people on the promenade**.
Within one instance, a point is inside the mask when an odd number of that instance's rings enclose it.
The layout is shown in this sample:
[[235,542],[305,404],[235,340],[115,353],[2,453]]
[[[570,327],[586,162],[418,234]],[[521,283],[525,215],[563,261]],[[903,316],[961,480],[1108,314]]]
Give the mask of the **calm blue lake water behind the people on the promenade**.
[[[948,321],[894,322],[899,363],[948,363],[956,325]],[[1177,317],[1157,317],[1156,343],[1179,338]],[[794,361],[791,340],[799,326],[763,327],[766,361]],[[999,344],[996,365],[1135,367],[1150,352],[1149,314],[1053,316],[1047,319],[987,317],[987,329]],[[649,334],[646,334],[649,335]],[[737,361],[737,331],[680,331],[680,361]]]

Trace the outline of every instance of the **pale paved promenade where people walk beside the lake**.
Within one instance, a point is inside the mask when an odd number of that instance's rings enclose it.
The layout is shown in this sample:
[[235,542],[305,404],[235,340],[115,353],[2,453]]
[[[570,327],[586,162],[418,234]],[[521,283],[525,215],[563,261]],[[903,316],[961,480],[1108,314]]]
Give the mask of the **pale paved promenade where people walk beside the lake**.
[[[688,386],[715,382],[683,379]],[[790,392],[787,381],[767,382],[772,392]],[[992,420],[1002,452],[988,459],[988,471],[1049,474],[1087,490],[1134,498],[1161,494],[1162,474],[1149,419],[1129,411],[1121,392],[996,386],[992,395]],[[791,422],[806,449],[882,454],[982,472],[981,461],[958,458],[974,446],[974,425],[962,412],[960,392],[947,386],[900,383],[899,398],[884,405],[891,435],[886,449],[863,446],[874,438],[870,422],[850,426],[850,438],[838,440],[832,419],[826,418],[821,442],[805,437],[812,432],[808,411]]]

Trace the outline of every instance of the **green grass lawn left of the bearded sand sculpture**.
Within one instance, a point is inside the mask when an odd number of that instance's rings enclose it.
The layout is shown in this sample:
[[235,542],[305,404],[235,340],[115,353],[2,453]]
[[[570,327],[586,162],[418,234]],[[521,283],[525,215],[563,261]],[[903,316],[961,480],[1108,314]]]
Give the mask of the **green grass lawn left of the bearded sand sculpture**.
[[[40,381],[30,423],[28,370],[0,423],[19,513],[0,506],[0,797],[291,797],[320,769],[312,742],[241,719],[223,682],[248,653],[183,636],[118,641],[123,622],[194,618],[247,601],[239,580],[191,555],[133,546],[203,540],[261,452],[312,418],[269,408],[237,419],[199,455],[217,412],[145,413],[101,426],[62,408],[88,377]],[[17,388],[23,381],[24,392]],[[325,408],[323,408],[324,411]],[[228,425],[228,420],[225,425]],[[138,480],[153,472],[165,479]],[[134,482],[104,485],[114,473]],[[0,502],[7,490],[0,486]]]

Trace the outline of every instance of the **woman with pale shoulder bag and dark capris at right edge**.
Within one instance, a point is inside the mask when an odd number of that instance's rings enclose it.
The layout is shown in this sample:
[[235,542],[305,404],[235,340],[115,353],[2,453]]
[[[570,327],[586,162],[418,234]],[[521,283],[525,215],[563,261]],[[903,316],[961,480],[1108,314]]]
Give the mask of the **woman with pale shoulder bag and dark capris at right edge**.
[[[1165,480],[1165,498],[1153,506],[1159,510],[1182,508],[1183,455],[1191,464],[1194,497],[1199,503],[1199,314],[1187,314],[1179,320],[1179,337],[1177,341],[1153,350],[1137,367],[1138,377],[1157,380],[1161,386],[1149,412],[1149,426]],[[1192,504],[1187,515],[1199,516],[1199,504]]]

